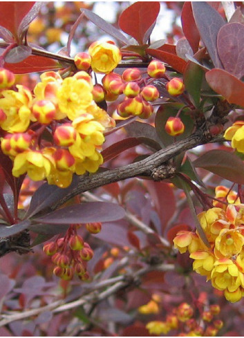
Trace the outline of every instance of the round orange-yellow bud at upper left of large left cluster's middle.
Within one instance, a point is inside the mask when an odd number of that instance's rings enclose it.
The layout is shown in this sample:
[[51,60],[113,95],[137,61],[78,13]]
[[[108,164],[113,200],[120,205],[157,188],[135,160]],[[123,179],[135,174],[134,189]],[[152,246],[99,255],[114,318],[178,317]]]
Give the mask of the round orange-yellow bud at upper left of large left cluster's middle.
[[32,106],[32,114],[41,124],[49,124],[55,118],[56,108],[53,102],[40,100]]

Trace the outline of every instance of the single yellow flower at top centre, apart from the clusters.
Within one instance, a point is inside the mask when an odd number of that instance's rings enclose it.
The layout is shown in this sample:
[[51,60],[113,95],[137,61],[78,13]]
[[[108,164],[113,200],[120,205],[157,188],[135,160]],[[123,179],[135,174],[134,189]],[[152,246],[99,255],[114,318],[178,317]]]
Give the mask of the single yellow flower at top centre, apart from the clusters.
[[91,68],[95,73],[111,73],[122,59],[120,49],[109,42],[93,42],[88,53],[91,55]]

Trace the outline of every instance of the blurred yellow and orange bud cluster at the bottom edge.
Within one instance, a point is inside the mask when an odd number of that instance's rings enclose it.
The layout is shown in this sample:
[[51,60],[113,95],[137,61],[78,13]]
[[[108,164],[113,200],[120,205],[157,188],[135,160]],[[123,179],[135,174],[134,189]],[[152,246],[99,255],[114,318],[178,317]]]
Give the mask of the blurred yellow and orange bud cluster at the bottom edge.
[[216,319],[219,312],[220,307],[216,304],[208,306],[207,310],[201,308],[198,314],[188,303],[180,303],[165,321],[149,321],[146,328],[150,335],[167,335],[169,331],[177,330],[178,337],[214,337],[223,327],[223,321]]

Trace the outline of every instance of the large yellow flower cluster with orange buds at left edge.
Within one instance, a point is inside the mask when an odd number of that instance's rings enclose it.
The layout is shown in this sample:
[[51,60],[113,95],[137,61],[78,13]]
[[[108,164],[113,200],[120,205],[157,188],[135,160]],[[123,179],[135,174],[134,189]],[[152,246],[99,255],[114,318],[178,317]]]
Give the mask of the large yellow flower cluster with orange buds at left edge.
[[[34,88],[0,93],[1,149],[13,161],[12,174],[68,187],[73,173],[95,172],[104,130],[114,122],[93,101],[90,75],[79,71],[62,79],[53,71]],[[45,133],[44,133],[45,131]]]

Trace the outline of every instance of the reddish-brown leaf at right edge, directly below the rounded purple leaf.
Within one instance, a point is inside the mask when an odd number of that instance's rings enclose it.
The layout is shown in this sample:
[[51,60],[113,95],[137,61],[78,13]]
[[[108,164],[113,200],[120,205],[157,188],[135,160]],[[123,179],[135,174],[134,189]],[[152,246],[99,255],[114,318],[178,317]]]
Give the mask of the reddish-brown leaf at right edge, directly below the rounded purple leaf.
[[244,83],[223,69],[212,69],[205,74],[207,83],[223,95],[229,103],[244,106]]

